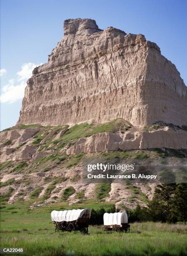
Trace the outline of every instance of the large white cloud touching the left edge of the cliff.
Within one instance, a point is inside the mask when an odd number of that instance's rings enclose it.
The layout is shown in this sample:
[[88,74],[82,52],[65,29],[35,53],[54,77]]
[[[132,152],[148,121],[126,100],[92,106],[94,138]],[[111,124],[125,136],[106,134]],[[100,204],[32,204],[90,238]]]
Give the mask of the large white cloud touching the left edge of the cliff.
[[10,79],[8,83],[2,87],[0,102],[14,103],[17,100],[21,100],[24,96],[27,79],[32,76],[32,70],[37,66],[39,65],[30,62],[23,64],[21,70],[17,72],[16,79]]

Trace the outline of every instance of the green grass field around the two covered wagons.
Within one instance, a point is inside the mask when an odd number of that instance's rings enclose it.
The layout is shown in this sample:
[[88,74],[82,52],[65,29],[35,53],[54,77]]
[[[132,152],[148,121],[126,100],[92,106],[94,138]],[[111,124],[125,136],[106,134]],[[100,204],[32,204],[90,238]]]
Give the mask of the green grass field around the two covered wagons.
[[[103,206],[111,204],[87,205],[95,209]],[[90,226],[89,235],[78,231],[52,233],[55,229],[50,212],[60,207],[60,204],[48,205],[30,210],[27,203],[2,205],[1,247],[21,247],[25,250],[24,255],[29,256],[187,255],[187,225],[132,223],[130,233],[104,233],[100,226]],[[61,209],[64,207],[67,206]]]

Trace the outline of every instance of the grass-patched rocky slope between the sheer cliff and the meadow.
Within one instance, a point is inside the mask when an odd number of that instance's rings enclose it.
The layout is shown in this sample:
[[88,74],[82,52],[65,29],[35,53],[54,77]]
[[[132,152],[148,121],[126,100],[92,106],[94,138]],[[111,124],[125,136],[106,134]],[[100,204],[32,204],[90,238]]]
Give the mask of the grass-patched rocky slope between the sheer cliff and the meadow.
[[[171,135],[176,133],[177,136],[187,133],[180,127],[165,123],[137,130],[123,119],[72,127],[20,125],[9,128],[0,133],[2,199],[9,203],[26,200],[30,202],[30,207],[59,201],[72,204],[86,200],[112,201],[118,207],[135,207],[137,202],[145,205],[152,198],[155,184],[82,183],[82,159],[117,157],[125,161],[157,159],[162,162],[167,156],[187,158],[187,150],[173,149],[173,143],[177,143],[175,139],[172,140],[173,136],[168,136],[171,149],[164,148],[163,144],[160,144],[162,150],[157,149],[158,143],[163,142],[157,133],[160,135],[165,132]],[[155,149],[140,147],[144,136],[153,136],[150,145]],[[154,137],[157,139],[154,140]],[[129,144],[134,145],[136,150],[128,150]]]

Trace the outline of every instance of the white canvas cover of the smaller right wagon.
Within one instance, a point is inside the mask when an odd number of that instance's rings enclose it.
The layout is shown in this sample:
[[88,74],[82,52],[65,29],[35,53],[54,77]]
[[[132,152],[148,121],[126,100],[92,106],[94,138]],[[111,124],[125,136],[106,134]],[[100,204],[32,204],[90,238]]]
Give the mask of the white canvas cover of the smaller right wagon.
[[122,223],[128,223],[128,217],[126,212],[107,213],[103,215],[104,225],[121,225]]

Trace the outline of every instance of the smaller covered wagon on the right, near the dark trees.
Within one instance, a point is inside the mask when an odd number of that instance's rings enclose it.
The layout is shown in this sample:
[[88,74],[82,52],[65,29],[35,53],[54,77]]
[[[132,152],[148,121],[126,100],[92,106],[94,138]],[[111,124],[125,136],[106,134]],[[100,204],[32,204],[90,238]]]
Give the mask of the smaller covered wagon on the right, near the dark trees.
[[126,212],[107,213],[103,215],[104,231],[125,231],[130,232],[128,217]]

